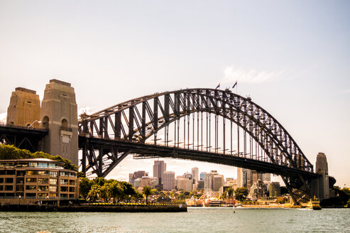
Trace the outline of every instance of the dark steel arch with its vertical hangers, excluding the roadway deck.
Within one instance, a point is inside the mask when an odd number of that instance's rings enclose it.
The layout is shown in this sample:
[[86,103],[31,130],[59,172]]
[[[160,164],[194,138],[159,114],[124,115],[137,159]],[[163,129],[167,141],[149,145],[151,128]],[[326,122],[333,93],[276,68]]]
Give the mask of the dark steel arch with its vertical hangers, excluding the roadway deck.
[[[229,154],[232,156],[247,157],[246,146],[239,148],[238,143],[238,151],[234,153],[231,140],[231,144],[226,148],[226,137],[229,136],[232,139],[232,123],[234,123],[237,125],[238,132],[239,129],[243,130],[244,140],[246,140],[245,134],[247,133],[258,143],[258,146],[264,152],[264,156],[266,156],[263,158],[264,162],[312,173],[312,164],[307,160],[292,136],[288,134],[288,131],[265,109],[252,102],[250,98],[241,97],[229,90],[188,89],[131,99],[92,115],[82,115],[79,121],[79,133],[84,139],[99,138],[105,141],[132,143],[146,143],[146,140],[153,136],[153,142],[157,144],[157,134],[164,129],[165,146],[169,146],[168,127],[171,123],[174,123],[174,144],[170,147],[180,148],[180,143],[183,143],[182,147],[186,148],[187,146],[187,149],[189,149],[191,135],[193,137],[192,149],[203,152],[209,150],[211,152],[211,142],[209,142],[209,146],[208,141],[204,146],[203,139],[199,143],[199,131],[203,134],[203,129],[199,130],[199,127],[197,127],[197,146],[194,145],[195,131],[190,134],[191,129],[187,129],[187,135],[184,133],[182,138],[183,142],[180,142],[180,130],[176,134],[176,127],[180,126],[180,119],[184,119],[183,126],[186,127],[186,119],[188,126],[190,126],[190,115],[197,114],[197,126],[199,126],[200,116],[203,125],[203,113],[209,113],[209,121],[211,115],[214,114],[214,153],[219,153],[217,118],[220,116],[223,124],[226,124],[226,119],[231,122],[230,132],[225,132],[225,128],[223,128],[224,132],[221,136],[224,138],[222,140],[223,154],[226,154],[227,149],[231,149]],[[208,115],[204,116],[205,120],[208,121]],[[193,121],[192,126],[195,130],[195,116]],[[206,126],[208,128],[208,123],[206,123]],[[209,134],[212,134],[210,128],[211,125],[209,124]],[[185,128],[184,132],[186,132]],[[208,134],[208,130],[206,134]],[[238,138],[239,135],[238,133]],[[211,136],[209,135],[209,141]],[[80,139],[80,141],[84,141],[84,139]],[[120,151],[116,146],[112,146],[114,148],[100,146],[97,149],[91,143],[89,145],[87,143],[80,144],[84,144],[82,170],[84,172],[92,170],[93,173],[97,173],[99,176],[108,174],[128,153],[133,153],[132,148]],[[82,148],[82,146],[80,147]],[[95,151],[98,151],[98,155]],[[143,156],[147,156],[147,153]],[[148,156],[154,156],[154,153]],[[252,155],[248,157],[252,158]],[[258,160],[257,154],[255,157]]]

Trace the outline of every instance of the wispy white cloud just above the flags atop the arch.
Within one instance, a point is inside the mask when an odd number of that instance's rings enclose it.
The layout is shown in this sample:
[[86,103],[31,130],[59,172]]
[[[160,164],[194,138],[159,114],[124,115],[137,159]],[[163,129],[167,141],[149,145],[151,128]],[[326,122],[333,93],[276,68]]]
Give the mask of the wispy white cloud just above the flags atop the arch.
[[224,70],[224,79],[221,82],[234,84],[234,82],[238,81],[257,84],[274,80],[280,77],[284,72],[284,70],[266,71],[246,69],[243,67],[237,67],[236,65],[231,65]]

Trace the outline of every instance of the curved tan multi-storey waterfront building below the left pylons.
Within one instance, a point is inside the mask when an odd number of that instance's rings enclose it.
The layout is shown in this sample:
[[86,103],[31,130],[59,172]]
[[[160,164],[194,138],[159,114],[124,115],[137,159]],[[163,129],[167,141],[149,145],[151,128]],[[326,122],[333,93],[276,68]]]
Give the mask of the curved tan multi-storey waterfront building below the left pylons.
[[79,198],[79,178],[48,158],[0,161],[0,203],[31,204]]

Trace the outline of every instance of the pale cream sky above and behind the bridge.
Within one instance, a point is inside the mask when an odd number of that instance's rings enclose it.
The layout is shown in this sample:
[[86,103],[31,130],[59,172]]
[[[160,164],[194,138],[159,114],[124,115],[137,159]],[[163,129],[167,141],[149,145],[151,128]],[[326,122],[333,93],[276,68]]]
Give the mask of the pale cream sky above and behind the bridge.
[[[97,112],[154,92],[229,87],[272,114],[350,186],[350,1],[0,0],[0,118],[16,87],[71,82]],[[167,160],[177,175],[235,168]],[[127,158],[111,177],[146,170]]]

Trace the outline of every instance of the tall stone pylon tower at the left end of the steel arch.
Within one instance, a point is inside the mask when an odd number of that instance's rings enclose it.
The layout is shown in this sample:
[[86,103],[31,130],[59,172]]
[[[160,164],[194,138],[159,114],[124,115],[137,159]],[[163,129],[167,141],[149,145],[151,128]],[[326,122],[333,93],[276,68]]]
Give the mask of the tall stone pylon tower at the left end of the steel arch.
[[43,128],[49,129],[43,151],[78,166],[77,102],[70,83],[50,80],[41,102],[40,119]]

